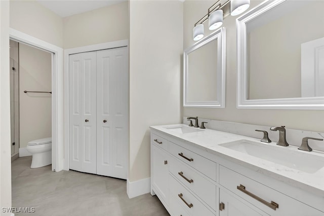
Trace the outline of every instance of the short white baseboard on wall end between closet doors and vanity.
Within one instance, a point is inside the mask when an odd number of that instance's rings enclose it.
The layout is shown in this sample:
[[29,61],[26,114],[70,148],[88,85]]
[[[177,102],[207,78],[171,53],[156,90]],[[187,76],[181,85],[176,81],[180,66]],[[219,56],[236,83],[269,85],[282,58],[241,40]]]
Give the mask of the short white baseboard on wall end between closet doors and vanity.
[[151,178],[143,178],[141,180],[130,182],[127,178],[127,195],[128,198],[134,198],[142,194],[150,193]]

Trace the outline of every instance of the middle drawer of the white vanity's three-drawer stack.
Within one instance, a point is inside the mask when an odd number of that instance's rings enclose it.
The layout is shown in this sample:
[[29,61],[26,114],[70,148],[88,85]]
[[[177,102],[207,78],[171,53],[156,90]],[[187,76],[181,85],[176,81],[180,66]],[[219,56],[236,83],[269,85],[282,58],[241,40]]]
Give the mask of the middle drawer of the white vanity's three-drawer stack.
[[216,211],[216,185],[176,159],[170,159],[170,172],[200,199]]

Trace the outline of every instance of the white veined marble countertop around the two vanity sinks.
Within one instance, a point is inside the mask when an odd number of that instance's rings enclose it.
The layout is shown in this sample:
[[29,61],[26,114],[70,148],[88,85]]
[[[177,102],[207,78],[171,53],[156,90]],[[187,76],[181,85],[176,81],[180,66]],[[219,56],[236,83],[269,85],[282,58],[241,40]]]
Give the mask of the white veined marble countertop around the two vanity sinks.
[[[259,173],[263,173],[270,177],[277,179],[278,181],[288,183],[291,186],[295,186],[302,190],[309,191],[311,193],[323,196],[324,194],[324,153],[320,151],[305,152],[298,150],[296,146],[281,147],[277,146],[276,142],[264,143],[261,142],[259,138],[253,138],[218,130],[204,129],[200,132],[190,132],[190,133],[179,133],[170,129],[168,127],[184,126],[185,124],[173,124],[173,125],[161,125],[161,126],[151,126],[153,130],[157,130],[160,133],[165,133],[167,135],[172,135],[176,138],[180,138],[188,145],[195,146],[201,150],[210,152],[224,159],[230,160],[232,162],[238,163],[242,166],[252,168],[257,170]],[[191,128],[191,127],[190,127]],[[220,144],[233,142],[237,140],[250,140],[258,142],[262,145],[268,145],[278,148],[280,151],[291,150],[292,154],[304,153],[307,157],[309,155],[314,155],[319,163],[323,164],[323,167],[318,169],[313,173],[300,171],[294,168],[290,168],[284,165],[280,165],[268,160],[260,159],[245,153],[241,153],[232,149],[220,146]]]

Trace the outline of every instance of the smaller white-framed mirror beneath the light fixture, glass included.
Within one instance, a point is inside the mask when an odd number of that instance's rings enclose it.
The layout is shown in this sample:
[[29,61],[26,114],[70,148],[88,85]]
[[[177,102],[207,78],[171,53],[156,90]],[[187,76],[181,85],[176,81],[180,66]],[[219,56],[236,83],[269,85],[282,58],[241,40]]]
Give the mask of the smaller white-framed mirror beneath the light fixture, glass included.
[[225,28],[183,52],[185,107],[225,107]]

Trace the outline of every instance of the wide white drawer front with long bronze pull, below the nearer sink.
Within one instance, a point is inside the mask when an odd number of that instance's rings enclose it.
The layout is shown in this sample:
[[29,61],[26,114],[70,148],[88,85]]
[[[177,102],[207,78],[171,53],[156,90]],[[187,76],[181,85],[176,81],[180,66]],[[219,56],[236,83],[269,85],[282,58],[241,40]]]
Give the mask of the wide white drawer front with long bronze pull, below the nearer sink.
[[[309,205],[223,166],[220,166],[219,169],[219,184],[270,215],[319,216],[324,214]],[[276,204],[278,205],[277,208],[275,207]]]

